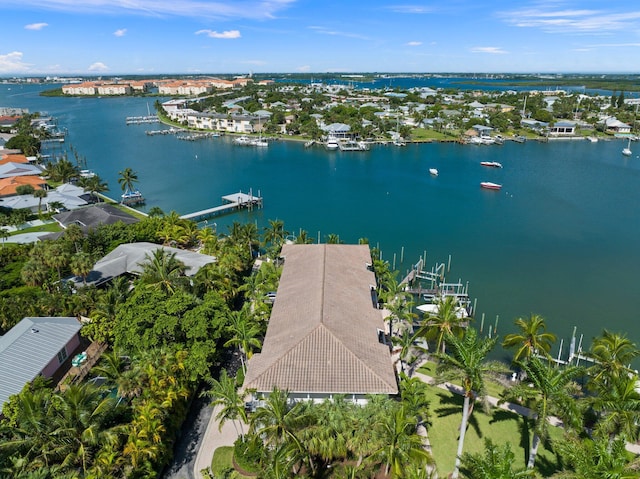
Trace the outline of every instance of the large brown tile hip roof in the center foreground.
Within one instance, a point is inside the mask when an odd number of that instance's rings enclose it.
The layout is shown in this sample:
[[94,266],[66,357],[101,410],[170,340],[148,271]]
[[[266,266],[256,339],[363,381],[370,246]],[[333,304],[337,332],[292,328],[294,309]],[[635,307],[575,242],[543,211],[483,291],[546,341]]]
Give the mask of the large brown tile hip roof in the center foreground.
[[285,245],[285,265],[262,352],[245,389],[396,394],[383,321],[371,296],[366,245]]

